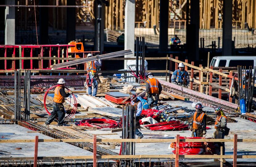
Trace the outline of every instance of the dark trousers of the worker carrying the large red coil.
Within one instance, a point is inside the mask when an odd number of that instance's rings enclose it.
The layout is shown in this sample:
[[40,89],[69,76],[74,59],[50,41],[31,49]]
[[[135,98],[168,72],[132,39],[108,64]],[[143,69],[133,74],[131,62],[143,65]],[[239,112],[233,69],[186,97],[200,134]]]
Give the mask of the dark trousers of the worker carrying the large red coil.
[[62,103],[53,102],[53,111],[49,118],[45,121],[47,125],[51,124],[52,121],[58,116],[58,126],[62,126],[64,123],[65,111]]

